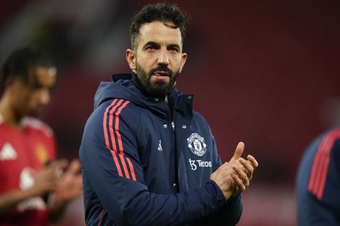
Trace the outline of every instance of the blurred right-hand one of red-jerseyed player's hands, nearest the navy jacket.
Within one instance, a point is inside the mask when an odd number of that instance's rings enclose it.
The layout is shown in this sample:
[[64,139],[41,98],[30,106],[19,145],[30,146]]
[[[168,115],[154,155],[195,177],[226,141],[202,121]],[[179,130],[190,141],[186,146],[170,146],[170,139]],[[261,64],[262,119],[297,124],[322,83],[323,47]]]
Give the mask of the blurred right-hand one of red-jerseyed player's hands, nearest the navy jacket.
[[59,201],[71,201],[82,194],[82,178],[79,160],[73,160],[68,169],[62,174],[60,183],[55,190],[55,198]]

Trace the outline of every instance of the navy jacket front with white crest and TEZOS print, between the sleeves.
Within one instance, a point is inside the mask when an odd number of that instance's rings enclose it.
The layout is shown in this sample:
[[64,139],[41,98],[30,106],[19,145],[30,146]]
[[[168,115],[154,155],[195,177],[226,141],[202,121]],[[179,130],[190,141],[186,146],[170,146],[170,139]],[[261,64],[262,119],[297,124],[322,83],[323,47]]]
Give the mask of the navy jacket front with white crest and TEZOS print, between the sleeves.
[[[149,116],[140,125],[140,160],[152,191],[169,193],[175,182],[181,191],[186,191],[202,186],[210,178],[213,165],[210,129],[200,120],[183,124],[185,121],[176,116],[173,130],[169,121]],[[169,187],[164,188],[164,184]]]

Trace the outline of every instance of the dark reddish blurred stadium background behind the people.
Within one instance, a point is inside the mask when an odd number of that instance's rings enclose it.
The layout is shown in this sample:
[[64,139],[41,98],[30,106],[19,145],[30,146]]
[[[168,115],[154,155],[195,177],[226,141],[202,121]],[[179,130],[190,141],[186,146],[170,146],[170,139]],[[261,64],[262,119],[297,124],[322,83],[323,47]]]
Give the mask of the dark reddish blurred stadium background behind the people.
[[[42,119],[60,157],[78,157],[99,81],[130,72],[130,18],[152,1],[1,1],[0,61],[40,44],[57,59],[57,89]],[[222,160],[238,141],[260,163],[239,225],[296,225],[297,164],[340,121],[340,1],[169,1],[191,15],[179,78],[195,94]],[[81,201],[62,225],[84,225]]]

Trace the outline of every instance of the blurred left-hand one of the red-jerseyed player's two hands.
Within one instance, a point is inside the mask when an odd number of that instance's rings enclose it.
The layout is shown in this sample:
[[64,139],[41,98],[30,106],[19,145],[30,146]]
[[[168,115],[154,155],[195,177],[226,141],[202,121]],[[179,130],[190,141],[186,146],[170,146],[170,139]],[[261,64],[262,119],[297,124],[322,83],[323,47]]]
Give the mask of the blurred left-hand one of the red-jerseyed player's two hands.
[[29,189],[33,196],[40,196],[54,191],[59,183],[62,169],[67,167],[67,160],[56,160],[42,168],[35,177],[34,185]]

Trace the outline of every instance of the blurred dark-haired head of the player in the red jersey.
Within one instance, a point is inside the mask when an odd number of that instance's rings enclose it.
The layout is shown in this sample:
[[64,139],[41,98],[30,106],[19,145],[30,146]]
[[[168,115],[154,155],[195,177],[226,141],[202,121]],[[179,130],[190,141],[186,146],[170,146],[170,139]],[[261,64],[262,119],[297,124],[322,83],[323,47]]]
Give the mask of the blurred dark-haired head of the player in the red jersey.
[[50,57],[40,49],[26,47],[13,52],[1,73],[2,99],[18,117],[37,117],[50,102],[57,70]]

